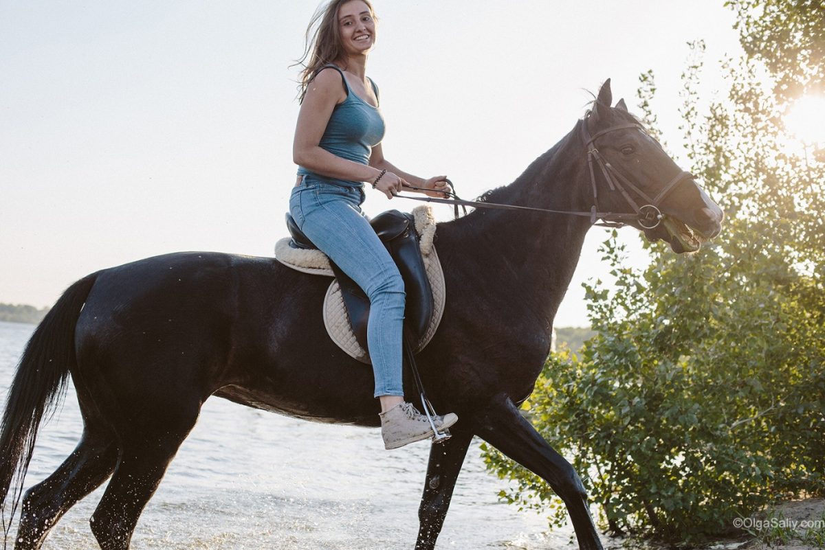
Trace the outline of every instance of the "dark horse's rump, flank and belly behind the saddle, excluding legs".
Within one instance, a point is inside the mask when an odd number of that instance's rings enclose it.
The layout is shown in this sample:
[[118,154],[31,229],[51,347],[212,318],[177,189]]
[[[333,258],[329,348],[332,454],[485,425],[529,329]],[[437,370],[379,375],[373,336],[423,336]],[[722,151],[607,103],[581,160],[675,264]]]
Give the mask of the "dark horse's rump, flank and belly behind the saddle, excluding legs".
[[[296,417],[361,423],[374,413],[372,371],[326,335],[328,285],[328,277],[276,259],[208,252],[106,269],[78,320],[81,379],[92,394],[120,392],[113,401],[134,392],[158,407],[200,405],[215,393]],[[342,395],[347,388],[365,402]]]

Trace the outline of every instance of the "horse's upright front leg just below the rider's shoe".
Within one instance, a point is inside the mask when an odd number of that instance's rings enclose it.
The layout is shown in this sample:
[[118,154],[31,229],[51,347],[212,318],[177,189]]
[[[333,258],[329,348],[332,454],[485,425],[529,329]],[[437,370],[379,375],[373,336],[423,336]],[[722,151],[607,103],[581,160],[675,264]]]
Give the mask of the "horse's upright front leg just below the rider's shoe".
[[416,550],[436,548],[436,538],[441,533],[447,508],[450,507],[455,480],[459,477],[464,455],[473,439],[473,432],[461,429],[459,424],[450,428],[452,437],[449,440],[434,443],[430,448],[427,479],[424,482],[421,506],[418,508],[421,527],[418,529]]

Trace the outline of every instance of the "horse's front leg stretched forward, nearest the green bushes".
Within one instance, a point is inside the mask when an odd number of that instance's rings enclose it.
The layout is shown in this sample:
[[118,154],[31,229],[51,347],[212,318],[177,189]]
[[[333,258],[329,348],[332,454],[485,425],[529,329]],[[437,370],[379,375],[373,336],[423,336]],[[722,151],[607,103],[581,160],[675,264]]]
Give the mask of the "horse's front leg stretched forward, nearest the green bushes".
[[596,525],[587,506],[581,478],[564,457],[553,450],[519,413],[506,395],[498,395],[475,417],[474,431],[530,472],[548,482],[567,506],[578,548],[601,550]]

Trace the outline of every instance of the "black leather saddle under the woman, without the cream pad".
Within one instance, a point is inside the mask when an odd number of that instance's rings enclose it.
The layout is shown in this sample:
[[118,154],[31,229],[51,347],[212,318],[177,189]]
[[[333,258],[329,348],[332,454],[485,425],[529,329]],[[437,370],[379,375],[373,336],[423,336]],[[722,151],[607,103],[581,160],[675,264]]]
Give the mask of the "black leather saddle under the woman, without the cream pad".
[[[395,260],[398,271],[404,281],[407,299],[404,309],[404,329],[411,341],[419,342],[427,333],[435,305],[432,299],[430,281],[421,257],[420,237],[415,230],[413,214],[388,210],[370,221],[375,233]],[[299,249],[317,249],[309,238],[301,232],[289,212],[286,214],[286,226],[292,235],[290,246]],[[355,281],[342,272],[341,268],[330,260],[332,272],[335,273],[352,331],[363,349],[367,349],[366,324],[370,317],[370,300]]]

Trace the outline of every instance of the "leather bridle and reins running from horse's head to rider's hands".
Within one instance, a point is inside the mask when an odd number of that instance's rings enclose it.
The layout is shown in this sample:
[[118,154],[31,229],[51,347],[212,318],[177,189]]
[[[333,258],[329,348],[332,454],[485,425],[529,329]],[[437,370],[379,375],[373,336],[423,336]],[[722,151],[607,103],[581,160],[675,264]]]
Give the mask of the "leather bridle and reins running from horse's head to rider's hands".
[[[413,197],[410,195],[401,195],[396,194],[396,197],[400,198],[409,198],[415,201],[424,201],[426,203],[441,203],[441,204],[452,204],[455,208],[455,219],[459,217],[459,207],[464,209],[464,214],[467,214],[466,207],[477,207],[477,208],[493,208],[497,210],[521,210],[521,211],[530,211],[530,212],[546,212],[550,214],[568,214],[571,216],[582,216],[582,217],[589,217],[590,223],[596,226],[606,226],[606,227],[621,227],[625,226],[625,221],[639,221],[639,225],[642,226],[644,229],[653,229],[657,227],[662,222],[662,211],[660,210],[659,206],[662,203],[662,200],[670,193],[673,189],[676,188],[676,185],[681,183],[681,181],[685,179],[693,179],[694,176],[690,172],[686,172],[684,170],[680,171],[676,176],[671,179],[667,185],[656,195],[654,198],[648,197],[647,193],[644,193],[642,189],[639,189],[636,185],[634,185],[629,179],[622,175],[619,170],[616,170],[613,165],[610,165],[610,162],[606,161],[603,156],[599,153],[598,149],[596,149],[596,139],[603,136],[606,133],[615,132],[616,130],[623,130],[627,128],[638,128],[640,131],[645,132],[644,128],[639,124],[623,124],[621,126],[614,126],[613,128],[606,128],[605,130],[601,130],[601,132],[597,132],[593,136],[587,132],[587,119],[582,121],[582,133],[584,134],[585,138],[585,149],[587,151],[587,167],[590,171],[590,182],[593,189],[593,206],[590,209],[590,212],[581,212],[581,211],[574,211],[574,210],[552,210],[549,208],[537,208],[537,207],[526,207],[526,206],[516,206],[513,204],[499,204],[499,203],[485,203],[482,201],[468,201],[460,198],[457,194],[455,194],[455,185],[450,181],[450,179],[446,179],[447,184],[450,187],[449,191],[443,191],[447,197],[450,198],[436,198],[436,197]],[[598,188],[596,187],[596,170],[593,169],[593,165],[596,164],[601,171],[601,174],[607,181],[607,185],[610,188],[610,191],[619,190],[622,197],[625,198],[625,202],[629,204],[630,207],[634,209],[634,213],[620,213],[620,212],[599,212],[598,211]],[[639,206],[636,201],[634,201],[633,197],[627,192],[627,189],[622,185],[624,184],[629,189],[631,189],[634,193],[636,193],[640,198],[643,198],[646,203],[642,206]],[[405,189],[411,189],[414,191],[432,191],[432,189],[423,189],[421,187],[413,187],[412,185],[405,186]],[[601,220],[602,223],[596,223],[596,220]]]

